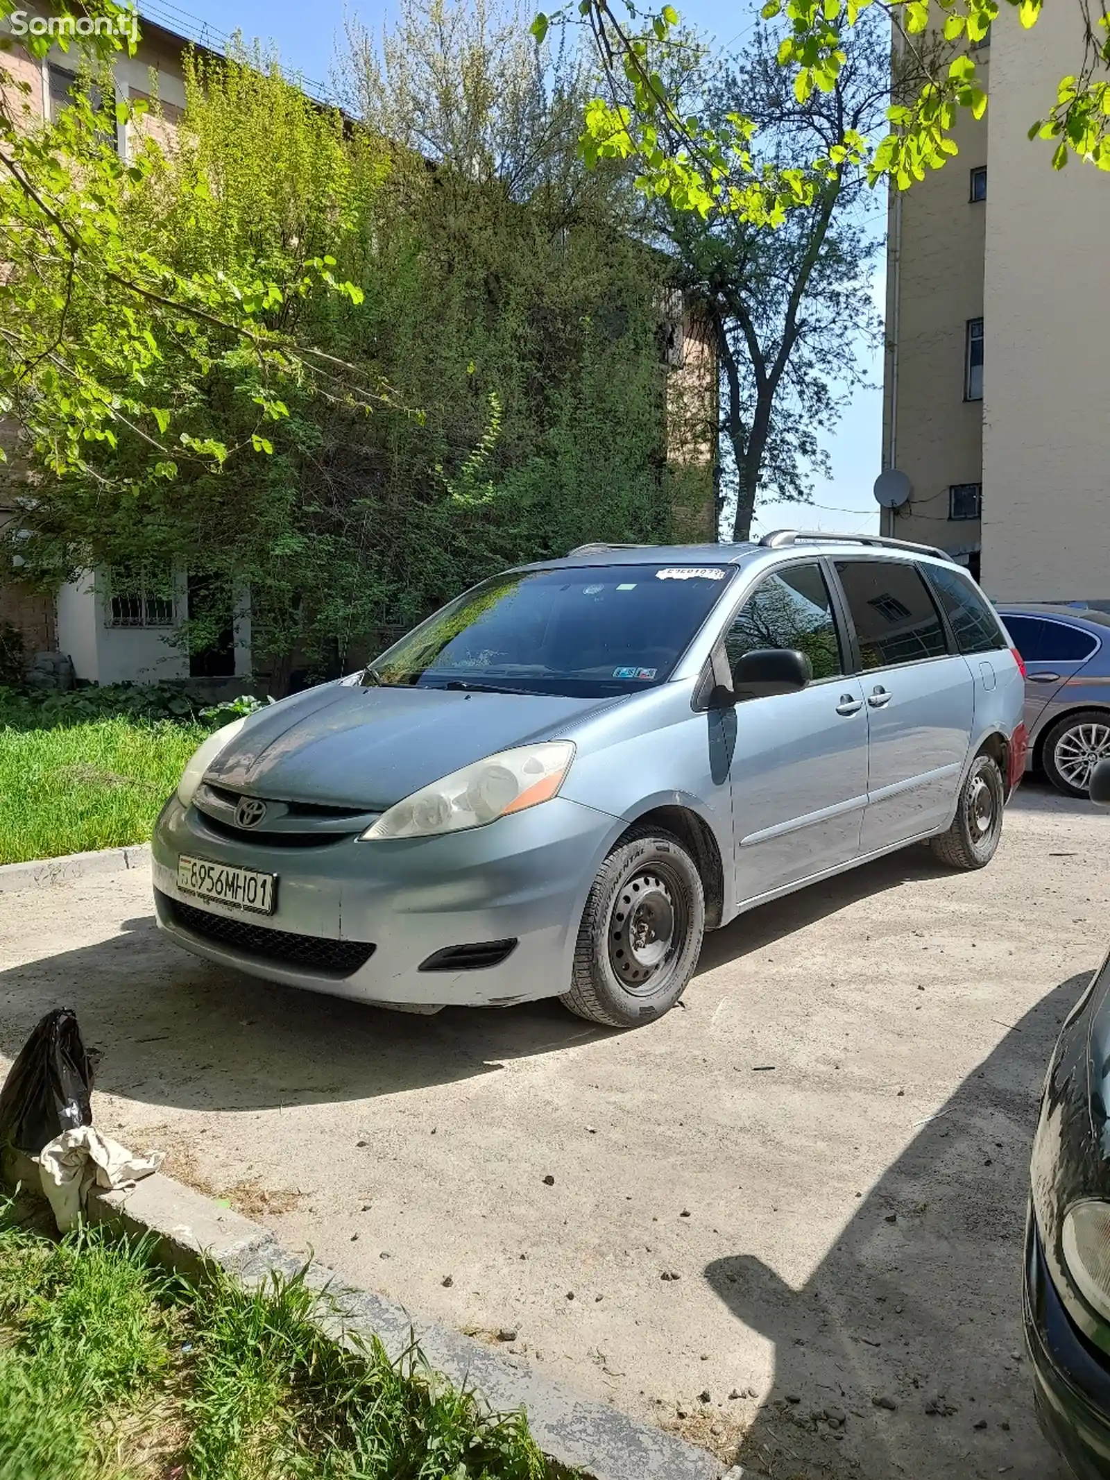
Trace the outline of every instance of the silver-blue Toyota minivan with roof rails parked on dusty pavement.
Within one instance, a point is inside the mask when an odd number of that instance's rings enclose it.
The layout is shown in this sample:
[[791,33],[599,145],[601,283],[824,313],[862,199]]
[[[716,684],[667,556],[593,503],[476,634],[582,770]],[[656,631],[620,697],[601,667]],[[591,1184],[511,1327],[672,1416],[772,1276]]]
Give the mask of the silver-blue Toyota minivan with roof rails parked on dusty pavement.
[[741,910],[912,842],[989,863],[1023,703],[941,551],[583,546],[206,740],[154,830],[158,921],[315,992],[636,1026]]

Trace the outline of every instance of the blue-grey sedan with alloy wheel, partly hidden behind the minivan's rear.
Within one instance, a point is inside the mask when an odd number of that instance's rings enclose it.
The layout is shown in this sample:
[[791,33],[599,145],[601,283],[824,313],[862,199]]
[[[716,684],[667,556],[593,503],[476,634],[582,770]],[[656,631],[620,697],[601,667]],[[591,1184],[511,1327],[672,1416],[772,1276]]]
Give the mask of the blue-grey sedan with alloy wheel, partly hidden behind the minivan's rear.
[[1091,607],[1000,605],[1026,663],[1027,765],[1064,796],[1086,796],[1110,758],[1110,613]]

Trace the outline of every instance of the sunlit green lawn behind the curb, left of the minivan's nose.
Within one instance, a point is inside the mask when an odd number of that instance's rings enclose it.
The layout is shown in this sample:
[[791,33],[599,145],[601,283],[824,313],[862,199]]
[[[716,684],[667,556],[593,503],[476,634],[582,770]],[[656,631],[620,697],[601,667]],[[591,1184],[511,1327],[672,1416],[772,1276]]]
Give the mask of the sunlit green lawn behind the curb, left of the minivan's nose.
[[124,716],[38,728],[0,707],[0,863],[145,842],[206,734]]

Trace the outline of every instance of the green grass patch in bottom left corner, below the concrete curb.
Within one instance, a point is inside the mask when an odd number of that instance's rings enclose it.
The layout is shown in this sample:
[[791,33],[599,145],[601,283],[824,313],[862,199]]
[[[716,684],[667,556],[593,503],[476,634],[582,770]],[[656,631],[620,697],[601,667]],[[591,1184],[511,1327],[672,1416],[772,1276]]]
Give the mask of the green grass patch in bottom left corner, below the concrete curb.
[[522,1415],[417,1353],[340,1348],[300,1279],[252,1294],[148,1255],[0,1214],[4,1480],[543,1480]]

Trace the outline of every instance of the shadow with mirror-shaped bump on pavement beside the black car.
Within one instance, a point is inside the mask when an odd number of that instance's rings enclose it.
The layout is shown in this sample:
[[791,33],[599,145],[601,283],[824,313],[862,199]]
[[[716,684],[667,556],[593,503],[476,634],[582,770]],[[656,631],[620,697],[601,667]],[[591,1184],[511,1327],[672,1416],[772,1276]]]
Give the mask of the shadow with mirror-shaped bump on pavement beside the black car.
[[[1063,1480],[1033,1418],[1021,1254],[1040,1086],[1088,980],[1070,977],[1009,1030],[866,1194],[804,1289],[743,1251],[707,1265],[716,1295],[776,1348],[774,1387],[739,1464],[773,1480]],[[817,1416],[829,1410],[832,1422]]]

